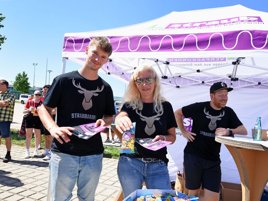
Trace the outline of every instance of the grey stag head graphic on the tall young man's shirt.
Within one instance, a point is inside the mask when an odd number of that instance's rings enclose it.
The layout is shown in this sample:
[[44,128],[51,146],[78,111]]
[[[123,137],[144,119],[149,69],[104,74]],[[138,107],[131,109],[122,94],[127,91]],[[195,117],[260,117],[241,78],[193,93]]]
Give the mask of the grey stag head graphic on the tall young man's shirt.
[[78,85],[75,84],[75,80],[73,79],[73,85],[76,87],[76,88],[79,88],[80,90],[78,90],[78,92],[80,94],[84,94],[84,100],[83,100],[83,108],[85,110],[88,110],[92,107],[92,96],[98,96],[99,94],[97,94],[97,92],[101,92],[104,88],[104,85],[102,85],[102,88],[99,89],[99,87],[96,89],[96,90],[92,90],[92,91],[89,91],[89,90],[86,90],[84,88],[82,88],[80,86],[80,83]]

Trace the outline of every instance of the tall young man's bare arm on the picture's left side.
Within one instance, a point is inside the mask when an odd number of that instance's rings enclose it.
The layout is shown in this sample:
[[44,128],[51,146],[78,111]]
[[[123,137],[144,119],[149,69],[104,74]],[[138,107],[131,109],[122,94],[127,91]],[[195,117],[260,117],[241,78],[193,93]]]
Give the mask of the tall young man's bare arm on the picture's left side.
[[44,105],[40,106],[39,109],[39,117],[46,127],[46,129],[50,132],[51,136],[55,137],[59,143],[63,144],[62,140],[59,138],[59,136],[62,137],[62,139],[65,142],[69,142],[70,139],[68,135],[72,135],[72,133],[69,130],[75,130],[72,127],[66,126],[66,127],[59,127],[52,118],[52,112],[53,108],[47,107]]

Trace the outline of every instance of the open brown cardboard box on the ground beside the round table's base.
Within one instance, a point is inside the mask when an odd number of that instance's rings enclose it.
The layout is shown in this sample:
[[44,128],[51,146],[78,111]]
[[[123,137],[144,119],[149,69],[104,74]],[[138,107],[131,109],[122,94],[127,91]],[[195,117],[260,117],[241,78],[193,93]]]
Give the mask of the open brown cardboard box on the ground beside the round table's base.
[[221,199],[222,201],[241,201],[242,187],[241,184],[221,182]]

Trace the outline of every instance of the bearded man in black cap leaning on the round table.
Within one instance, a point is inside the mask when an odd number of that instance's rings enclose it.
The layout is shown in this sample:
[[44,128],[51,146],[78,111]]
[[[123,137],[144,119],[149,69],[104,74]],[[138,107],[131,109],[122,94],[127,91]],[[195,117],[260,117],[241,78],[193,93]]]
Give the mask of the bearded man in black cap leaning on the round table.
[[[221,187],[221,143],[215,135],[233,136],[233,133],[247,135],[247,130],[232,108],[227,107],[228,92],[233,88],[224,82],[210,87],[211,101],[193,103],[175,111],[178,127],[188,141],[184,148],[185,187],[189,195],[199,196],[202,184],[204,195],[200,200],[219,200]],[[192,131],[186,131],[183,118],[191,117]]]

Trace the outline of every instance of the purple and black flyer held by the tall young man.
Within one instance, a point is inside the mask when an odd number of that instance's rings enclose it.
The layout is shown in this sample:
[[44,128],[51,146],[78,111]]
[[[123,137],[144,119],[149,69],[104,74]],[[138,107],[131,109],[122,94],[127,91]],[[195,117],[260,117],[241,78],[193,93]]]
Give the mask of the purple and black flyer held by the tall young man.
[[107,126],[98,126],[95,128],[94,126],[95,126],[95,123],[73,126],[72,128],[75,128],[75,130],[70,131],[70,132],[79,138],[83,138],[87,140],[93,135],[95,135],[96,133],[102,131],[103,129],[107,127]]

